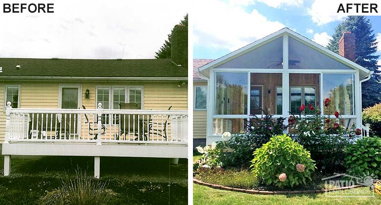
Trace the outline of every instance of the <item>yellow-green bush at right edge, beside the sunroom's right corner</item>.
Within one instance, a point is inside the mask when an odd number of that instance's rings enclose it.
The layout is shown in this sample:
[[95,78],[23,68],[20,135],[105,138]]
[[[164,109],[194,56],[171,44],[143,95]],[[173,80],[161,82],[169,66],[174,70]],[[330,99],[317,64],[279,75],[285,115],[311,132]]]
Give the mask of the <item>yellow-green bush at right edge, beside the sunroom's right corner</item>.
[[362,121],[370,124],[370,133],[381,137],[381,103],[362,111]]

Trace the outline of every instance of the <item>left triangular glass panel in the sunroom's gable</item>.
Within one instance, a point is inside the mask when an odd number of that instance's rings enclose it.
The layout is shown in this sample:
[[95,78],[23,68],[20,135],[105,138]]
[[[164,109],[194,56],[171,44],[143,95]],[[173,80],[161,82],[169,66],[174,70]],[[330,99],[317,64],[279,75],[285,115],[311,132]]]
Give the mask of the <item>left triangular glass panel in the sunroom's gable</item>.
[[276,38],[216,68],[282,69],[283,38]]

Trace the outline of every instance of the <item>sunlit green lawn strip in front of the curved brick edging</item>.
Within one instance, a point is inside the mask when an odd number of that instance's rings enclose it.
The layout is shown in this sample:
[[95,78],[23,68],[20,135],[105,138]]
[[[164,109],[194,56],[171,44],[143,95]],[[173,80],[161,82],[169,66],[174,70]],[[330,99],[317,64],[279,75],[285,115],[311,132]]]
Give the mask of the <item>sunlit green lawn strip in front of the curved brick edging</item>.
[[[359,191],[370,193],[369,188]],[[348,190],[342,195],[351,194]],[[375,198],[327,198],[325,194],[254,195],[213,189],[193,184],[194,205],[380,205],[381,196]]]

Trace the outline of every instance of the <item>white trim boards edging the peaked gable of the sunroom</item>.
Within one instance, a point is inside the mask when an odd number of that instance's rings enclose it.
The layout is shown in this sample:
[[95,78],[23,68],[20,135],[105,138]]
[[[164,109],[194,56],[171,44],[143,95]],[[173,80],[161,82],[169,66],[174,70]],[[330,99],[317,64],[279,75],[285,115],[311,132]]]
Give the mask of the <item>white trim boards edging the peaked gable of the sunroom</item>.
[[233,51],[232,53],[230,53],[228,55],[222,56],[222,57],[220,57],[220,58],[218,58],[218,59],[216,59],[216,60],[214,60],[214,61],[212,61],[212,62],[210,62],[208,64],[205,64],[205,65],[201,66],[200,68],[198,68],[198,70],[199,70],[200,73],[202,73],[202,71],[204,71],[206,69],[215,67],[215,66],[221,64],[222,62],[228,60],[229,58],[233,58],[234,56],[238,56],[242,52],[245,52],[245,51],[253,48],[254,46],[257,46],[257,45],[259,45],[259,44],[261,44],[261,43],[263,43],[265,41],[271,40],[271,39],[273,39],[275,37],[279,37],[279,36],[283,35],[284,33],[287,33],[288,35],[293,36],[293,37],[297,38],[298,40],[300,40],[300,41],[302,41],[302,42],[304,42],[304,43],[306,43],[308,45],[311,45],[312,47],[317,48],[323,54],[325,54],[325,55],[327,55],[329,57],[332,57],[335,60],[338,60],[339,62],[344,63],[344,64],[346,64],[347,66],[349,66],[349,67],[351,67],[353,69],[358,69],[358,70],[360,70],[362,72],[365,72],[365,73],[369,73],[370,72],[368,69],[360,66],[359,64],[357,64],[357,63],[355,63],[355,62],[353,62],[353,61],[351,61],[351,60],[349,60],[349,59],[347,59],[347,58],[345,58],[343,56],[340,56],[339,54],[337,54],[335,52],[330,51],[329,49],[319,45],[318,43],[315,43],[314,41],[312,41],[312,40],[310,40],[310,39],[308,39],[306,37],[301,36],[300,34],[290,30],[289,28],[283,28],[283,29],[281,29],[281,30],[279,30],[279,31],[269,35],[269,36],[263,37],[263,38],[255,41],[255,42],[249,44],[249,45],[246,45],[246,46],[244,46],[244,47],[242,47],[242,48],[240,48],[238,50]]

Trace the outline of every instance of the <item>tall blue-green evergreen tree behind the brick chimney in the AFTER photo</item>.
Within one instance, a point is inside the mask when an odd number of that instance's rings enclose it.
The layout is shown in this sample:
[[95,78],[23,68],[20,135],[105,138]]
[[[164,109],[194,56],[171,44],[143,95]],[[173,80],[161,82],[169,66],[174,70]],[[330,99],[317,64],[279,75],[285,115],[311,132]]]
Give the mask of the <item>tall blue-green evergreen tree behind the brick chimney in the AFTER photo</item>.
[[381,102],[381,75],[378,70],[376,35],[372,23],[364,16],[348,16],[336,28],[327,48],[339,53],[339,39],[342,32],[350,31],[356,37],[356,63],[374,71],[371,79],[362,83],[362,107],[367,108]]

